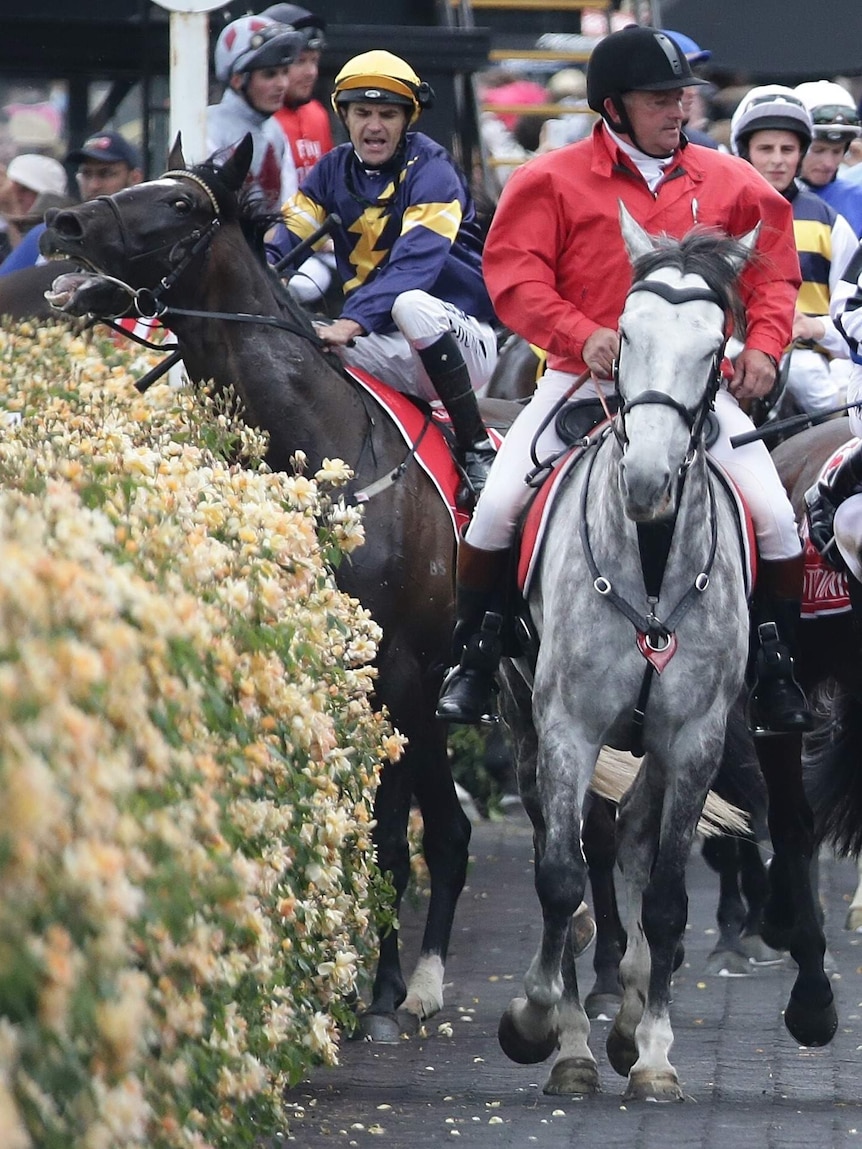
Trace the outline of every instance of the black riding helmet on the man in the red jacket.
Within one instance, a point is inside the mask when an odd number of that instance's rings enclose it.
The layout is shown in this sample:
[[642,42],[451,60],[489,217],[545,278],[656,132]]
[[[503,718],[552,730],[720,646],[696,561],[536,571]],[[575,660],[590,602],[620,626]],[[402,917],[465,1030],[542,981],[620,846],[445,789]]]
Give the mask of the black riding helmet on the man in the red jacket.
[[[634,140],[622,99],[626,92],[667,92],[707,83],[694,75],[671,36],[632,24],[606,36],[593,48],[586,67],[586,102],[615,132]],[[614,103],[616,119],[605,108],[607,99]]]

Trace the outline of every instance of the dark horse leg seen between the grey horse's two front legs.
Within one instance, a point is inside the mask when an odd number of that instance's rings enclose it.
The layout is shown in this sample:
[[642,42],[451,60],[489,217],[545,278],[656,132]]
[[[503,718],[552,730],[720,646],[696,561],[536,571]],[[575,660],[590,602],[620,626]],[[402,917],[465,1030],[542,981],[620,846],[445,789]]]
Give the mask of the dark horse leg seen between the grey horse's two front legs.
[[595,981],[584,1001],[584,1010],[592,1020],[610,1020],[622,1001],[619,962],[625,951],[625,931],[619,920],[614,885],[616,807],[613,802],[595,795],[591,797],[583,840],[595,918]]

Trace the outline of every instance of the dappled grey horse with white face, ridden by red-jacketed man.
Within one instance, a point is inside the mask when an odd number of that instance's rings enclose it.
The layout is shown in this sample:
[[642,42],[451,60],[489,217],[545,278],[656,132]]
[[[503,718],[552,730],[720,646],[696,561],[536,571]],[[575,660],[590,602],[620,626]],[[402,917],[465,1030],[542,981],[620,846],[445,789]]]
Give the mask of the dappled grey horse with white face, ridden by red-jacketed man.
[[[586,880],[582,817],[602,745],[631,749],[641,737],[646,757],[617,825],[628,943],[608,1056],[629,1078],[628,1097],[677,1100],[669,1003],[685,867],[748,646],[736,511],[710,473],[701,431],[734,313],[732,284],[754,233],[654,242],[624,208],[621,216],[636,280],[619,324],[621,415],[556,499],[546,531],[553,546],[529,593],[540,639],[534,673],[523,661],[503,670],[544,928],[500,1041],[524,1063],[559,1048],[546,1093],[598,1089],[570,930]],[[654,602],[639,531],[647,548],[667,550]],[[676,647],[646,703],[652,671],[636,631],[651,656]],[[645,711],[640,735],[636,709]]]

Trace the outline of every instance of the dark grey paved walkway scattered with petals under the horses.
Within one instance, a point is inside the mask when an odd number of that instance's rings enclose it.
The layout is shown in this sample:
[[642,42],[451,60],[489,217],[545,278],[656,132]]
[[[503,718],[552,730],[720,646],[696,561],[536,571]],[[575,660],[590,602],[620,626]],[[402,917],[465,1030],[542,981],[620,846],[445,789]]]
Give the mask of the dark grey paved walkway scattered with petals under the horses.
[[[844,930],[854,865],[823,863],[839,1030],[828,1048],[806,1050],[782,1020],[790,970],[705,976],[717,882],[699,856],[692,859],[686,962],[674,979],[671,1012],[672,1059],[688,1101],[625,1105],[624,1081],[605,1055],[607,1024],[593,1025],[591,1041],[603,1092],[585,1101],[544,1096],[548,1066],[514,1065],[501,1052],[497,1025],[521,993],[539,928],[526,819],[475,826],[471,854],[442,1012],[426,1035],[399,1046],[347,1042],[339,1067],[318,1070],[291,1092],[286,1140],[302,1149],[862,1149],[862,936]],[[403,933],[409,956],[417,942],[409,908]],[[585,955],[579,965],[584,992],[590,962]]]

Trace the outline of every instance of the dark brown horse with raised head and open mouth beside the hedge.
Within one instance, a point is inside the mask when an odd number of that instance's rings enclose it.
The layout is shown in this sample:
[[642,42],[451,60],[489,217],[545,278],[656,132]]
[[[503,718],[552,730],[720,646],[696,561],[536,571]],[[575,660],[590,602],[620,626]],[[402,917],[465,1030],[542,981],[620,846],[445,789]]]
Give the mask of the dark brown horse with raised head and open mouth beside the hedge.
[[[236,388],[248,422],[270,434],[274,469],[290,470],[301,450],[310,473],[324,457],[345,460],[355,472],[348,496],[383,480],[365,503],[367,542],[341,564],[338,580],[383,627],[379,702],[409,739],[405,758],[384,769],[375,807],[378,862],[392,874],[398,902],[409,877],[414,797],[424,822],[431,897],[418,964],[406,985],[398,932],[384,935],[374,997],[360,1018],[363,1036],[397,1041],[442,1004],[444,963],[467,872],[470,824],[455,794],[446,728],[434,719],[451,655],[455,535],[395,423],[323,353],[260,245],[256,253],[249,245],[251,222],[237,193],[251,156],[247,138],[225,164],[186,170],[175,147],[171,170],[160,179],[51,215],[43,242],[46,254],[83,259],[143,291],[139,302],[167,308],[190,377]],[[97,291],[103,296],[105,290],[102,282]],[[130,298],[118,291],[122,309]],[[86,299],[77,306],[93,309]],[[246,322],[225,318],[237,315]],[[247,322],[249,316],[274,317],[275,325]]]

